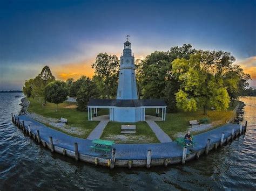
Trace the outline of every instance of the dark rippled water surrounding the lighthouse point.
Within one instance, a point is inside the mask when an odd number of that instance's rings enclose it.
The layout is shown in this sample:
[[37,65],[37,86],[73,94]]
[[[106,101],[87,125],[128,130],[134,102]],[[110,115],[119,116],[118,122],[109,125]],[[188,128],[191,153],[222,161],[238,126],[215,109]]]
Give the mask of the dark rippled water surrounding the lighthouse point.
[[52,154],[11,123],[21,94],[0,94],[0,190],[174,190],[256,187],[256,97],[242,98],[247,133],[186,165],[151,169],[95,167]]

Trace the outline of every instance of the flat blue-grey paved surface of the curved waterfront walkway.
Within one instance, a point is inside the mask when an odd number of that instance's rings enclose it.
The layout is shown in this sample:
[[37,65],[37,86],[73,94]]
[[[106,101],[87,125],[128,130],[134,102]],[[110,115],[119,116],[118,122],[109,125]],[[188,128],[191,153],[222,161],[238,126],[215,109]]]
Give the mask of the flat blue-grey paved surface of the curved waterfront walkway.
[[[30,131],[33,134],[36,134],[37,130],[39,130],[41,140],[44,140],[47,143],[49,143],[49,136],[51,136],[53,144],[58,147],[74,151],[74,143],[78,143],[79,153],[107,159],[111,156],[111,152],[104,156],[100,152],[92,151],[90,148],[90,146],[93,145],[92,140],[66,135],[63,132],[51,129],[48,126],[33,120],[28,115],[18,117],[21,122],[25,122],[26,129],[28,129],[28,125],[30,125]],[[107,123],[107,121],[105,123]],[[232,129],[239,131],[239,126],[240,125],[238,124],[226,124],[220,128],[194,136],[196,145],[193,150],[197,151],[200,148],[204,148],[208,138],[211,138],[211,144],[219,143],[221,133],[224,132],[224,138],[227,138],[231,135]],[[183,153],[183,148],[176,142],[154,144],[114,144],[114,148],[116,148],[116,159],[122,160],[145,160],[147,157],[147,150],[152,151],[152,159],[181,157]],[[187,150],[187,154],[190,154],[190,152],[190,150]]]

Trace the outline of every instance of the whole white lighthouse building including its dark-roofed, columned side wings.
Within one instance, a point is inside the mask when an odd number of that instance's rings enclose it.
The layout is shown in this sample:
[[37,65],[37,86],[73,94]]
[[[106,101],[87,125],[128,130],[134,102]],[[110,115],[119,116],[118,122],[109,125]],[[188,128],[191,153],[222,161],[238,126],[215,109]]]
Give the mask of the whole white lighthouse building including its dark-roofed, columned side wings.
[[98,115],[98,108],[109,109],[109,121],[145,121],[145,110],[149,108],[156,109],[156,115],[161,116],[161,120],[165,121],[167,105],[164,100],[138,99],[134,56],[128,38],[120,57],[117,99],[90,99],[87,107],[89,121],[92,121],[93,115]]

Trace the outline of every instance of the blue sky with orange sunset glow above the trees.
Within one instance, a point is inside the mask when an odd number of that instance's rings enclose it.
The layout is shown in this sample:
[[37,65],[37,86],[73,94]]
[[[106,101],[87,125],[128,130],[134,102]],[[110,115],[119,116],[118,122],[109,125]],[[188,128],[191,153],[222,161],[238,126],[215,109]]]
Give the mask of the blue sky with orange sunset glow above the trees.
[[59,80],[92,76],[100,52],[136,58],[190,43],[231,52],[256,88],[256,1],[0,0],[0,90],[48,65]]

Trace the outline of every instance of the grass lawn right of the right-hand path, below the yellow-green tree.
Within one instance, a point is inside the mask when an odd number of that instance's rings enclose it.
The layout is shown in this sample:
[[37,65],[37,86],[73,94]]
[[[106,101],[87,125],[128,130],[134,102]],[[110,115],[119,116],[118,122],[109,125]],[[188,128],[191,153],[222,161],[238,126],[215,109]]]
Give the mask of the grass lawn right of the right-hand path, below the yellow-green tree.
[[[161,129],[172,139],[175,139],[175,135],[178,132],[185,132],[189,126],[189,121],[197,119],[198,121],[202,118],[210,119],[213,128],[226,124],[228,119],[233,115],[233,110],[239,102],[235,102],[234,106],[231,106],[226,111],[208,110],[207,115],[203,115],[203,110],[193,112],[179,111],[174,114],[166,114],[166,121],[157,121],[156,123]],[[155,114],[156,110],[149,110],[149,114]],[[202,131],[203,132],[203,131]],[[195,134],[195,133],[193,133]]]

